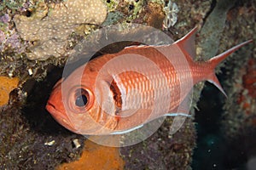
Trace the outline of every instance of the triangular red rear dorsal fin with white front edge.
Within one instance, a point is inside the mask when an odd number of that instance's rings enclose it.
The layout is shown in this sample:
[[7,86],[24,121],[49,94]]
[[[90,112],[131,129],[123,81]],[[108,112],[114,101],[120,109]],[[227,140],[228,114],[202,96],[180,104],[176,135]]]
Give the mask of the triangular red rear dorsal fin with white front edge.
[[186,51],[189,56],[192,59],[195,59],[195,33],[197,31],[197,27],[193,28],[191,31],[189,31],[188,34],[186,34],[181,39],[177,40],[177,45]]

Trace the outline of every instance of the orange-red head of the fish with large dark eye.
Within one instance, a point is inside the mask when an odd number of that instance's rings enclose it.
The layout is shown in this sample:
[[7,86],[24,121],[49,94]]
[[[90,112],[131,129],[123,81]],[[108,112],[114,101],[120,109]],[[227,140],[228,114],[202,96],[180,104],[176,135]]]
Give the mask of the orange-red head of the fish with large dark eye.
[[96,87],[96,77],[96,70],[81,66],[57,82],[50,94],[47,111],[73,133],[108,134],[116,126],[114,116],[102,109],[99,99],[106,93]]

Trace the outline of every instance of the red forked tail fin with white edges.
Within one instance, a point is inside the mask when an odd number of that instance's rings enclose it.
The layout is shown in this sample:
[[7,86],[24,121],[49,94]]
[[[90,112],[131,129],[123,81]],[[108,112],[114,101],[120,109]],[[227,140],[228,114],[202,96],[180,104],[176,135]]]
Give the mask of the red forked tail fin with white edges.
[[238,48],[241,48],[242,46],[246,45],[247,43],[253,42],[253,40],[248,40],[246,42],[241,42],[240,44],[236,45],[233,48],[228,49],[222,54],[218,54],[217,56],[213,57],[212,59],[209,59],[207,63],[210,65],[211,70],[213,71],[209,77],[207,77],[208,82],[212,82],[225,96],[227,96],[224,93],[224,89],[221,87],[220,83],[218,82],[218,78],[216,77],[214,73],[215,67],[224,59],[226,59],[230,54],[234,53]]

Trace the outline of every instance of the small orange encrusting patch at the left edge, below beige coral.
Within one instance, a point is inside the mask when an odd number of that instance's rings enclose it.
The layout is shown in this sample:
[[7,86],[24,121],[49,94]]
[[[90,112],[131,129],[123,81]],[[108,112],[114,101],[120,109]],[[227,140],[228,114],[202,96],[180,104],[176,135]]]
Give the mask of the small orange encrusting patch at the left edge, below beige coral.
[[0,77],[0,106],[9,101],[9,93],[18,86],[19,78]]

